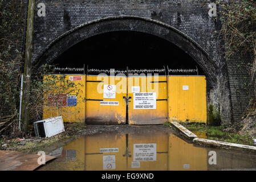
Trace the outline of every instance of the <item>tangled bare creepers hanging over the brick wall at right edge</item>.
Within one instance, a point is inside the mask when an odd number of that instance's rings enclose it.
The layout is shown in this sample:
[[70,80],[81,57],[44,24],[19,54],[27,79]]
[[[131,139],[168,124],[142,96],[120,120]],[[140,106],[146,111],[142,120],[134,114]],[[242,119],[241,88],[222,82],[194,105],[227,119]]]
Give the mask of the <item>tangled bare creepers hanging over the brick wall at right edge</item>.
[[[221,30],[220,38],[224,40],[222,48],[226,61],[233,57],[251,56],[251,63],[244,65],[250,81],[243,83],[248,93],[246,115],[256,114],[256,1],[216,1],[220,6]],[[237,89],[239,94],[240,90]]]

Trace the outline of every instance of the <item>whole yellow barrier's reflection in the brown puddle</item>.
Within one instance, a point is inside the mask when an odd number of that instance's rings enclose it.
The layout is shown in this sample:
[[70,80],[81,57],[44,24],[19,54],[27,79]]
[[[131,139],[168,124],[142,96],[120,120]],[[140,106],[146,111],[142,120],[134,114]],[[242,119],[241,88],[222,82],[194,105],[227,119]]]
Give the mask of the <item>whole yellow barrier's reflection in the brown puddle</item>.
[[55,166],[55,170],[203,171],[208,169],[206,148],[195,147],[173,134],[161,131],[150,135],[149,133],[104,133],[82,137],[63,147],[62,158],[66,159],[66,163]]

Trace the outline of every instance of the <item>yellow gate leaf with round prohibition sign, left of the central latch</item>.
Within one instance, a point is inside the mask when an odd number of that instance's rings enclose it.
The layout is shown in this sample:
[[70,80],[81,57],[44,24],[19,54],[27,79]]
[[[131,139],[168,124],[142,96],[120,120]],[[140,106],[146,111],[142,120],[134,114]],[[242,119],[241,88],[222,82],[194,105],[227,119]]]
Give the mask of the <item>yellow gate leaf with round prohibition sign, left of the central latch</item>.
[[[126,119],[126,77],[87,76],[86,122],[88,124],[121,124]],[[104,97],[104,85],[115,85],[115,98]],[[115,102],[115,105],[105,104]]]

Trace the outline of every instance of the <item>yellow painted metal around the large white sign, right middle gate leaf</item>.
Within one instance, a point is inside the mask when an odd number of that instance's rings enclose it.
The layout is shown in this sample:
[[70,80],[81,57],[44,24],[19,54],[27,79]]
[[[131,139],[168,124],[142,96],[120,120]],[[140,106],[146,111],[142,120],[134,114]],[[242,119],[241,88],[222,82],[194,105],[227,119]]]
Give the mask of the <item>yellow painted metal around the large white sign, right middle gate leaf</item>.
[[[139,92],[156,93],[156,109],[133,109],[132,88]],[[157,125],[168,121],[167,114],[167,80],[166,76],[128,77],[129,125]]]

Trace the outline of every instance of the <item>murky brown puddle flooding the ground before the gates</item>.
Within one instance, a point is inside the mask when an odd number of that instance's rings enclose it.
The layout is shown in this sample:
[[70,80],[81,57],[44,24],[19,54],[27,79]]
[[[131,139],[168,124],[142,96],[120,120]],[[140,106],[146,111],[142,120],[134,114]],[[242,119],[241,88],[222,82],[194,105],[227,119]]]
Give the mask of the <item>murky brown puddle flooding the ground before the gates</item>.
[[[201,134],[204,138],[204,134]],[[194,146],[166,131],[81,137],[39,170],[256,170],[256,155]]]

